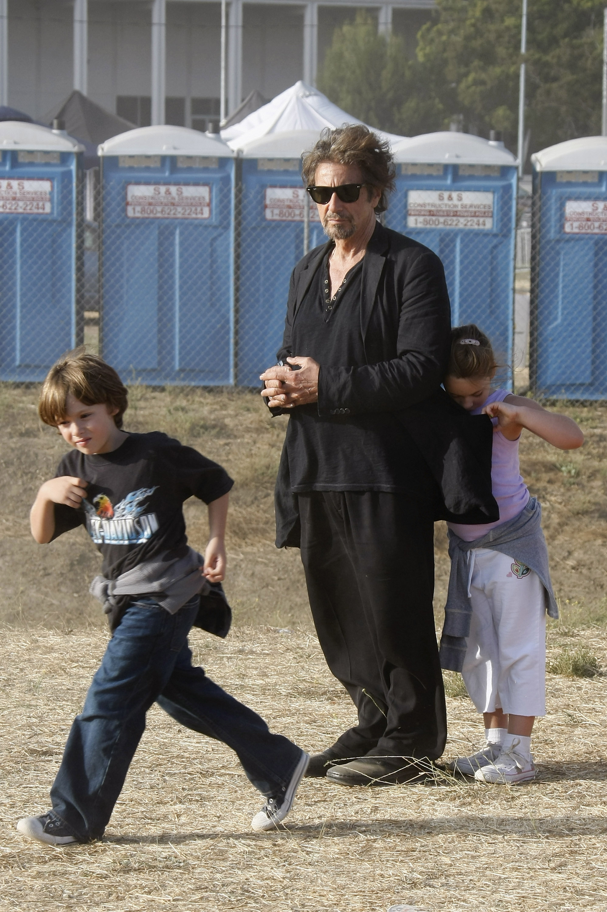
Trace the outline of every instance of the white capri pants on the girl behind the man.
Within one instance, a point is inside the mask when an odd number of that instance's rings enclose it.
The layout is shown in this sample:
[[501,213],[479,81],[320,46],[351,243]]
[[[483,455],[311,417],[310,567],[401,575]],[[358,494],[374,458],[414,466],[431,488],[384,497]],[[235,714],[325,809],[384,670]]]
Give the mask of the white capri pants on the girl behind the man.
[[546,715],[546,602],[539,576],[508,554],[468,552],[470,636],[462,677],[478,712]]

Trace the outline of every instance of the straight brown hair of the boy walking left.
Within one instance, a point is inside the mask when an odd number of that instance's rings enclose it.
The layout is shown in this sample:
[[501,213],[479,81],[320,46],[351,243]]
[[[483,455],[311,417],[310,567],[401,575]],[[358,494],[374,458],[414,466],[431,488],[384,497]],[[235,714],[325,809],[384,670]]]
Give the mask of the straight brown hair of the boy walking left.
[[56,428],[65,418],[69,393],[84,405],[105,404],[118,409],[113,418],[116,427],[122,427],[129,405],[127,389],[114,368],[84,347],[68,351],[48,371],[38,402],[38,415],[45,424]]

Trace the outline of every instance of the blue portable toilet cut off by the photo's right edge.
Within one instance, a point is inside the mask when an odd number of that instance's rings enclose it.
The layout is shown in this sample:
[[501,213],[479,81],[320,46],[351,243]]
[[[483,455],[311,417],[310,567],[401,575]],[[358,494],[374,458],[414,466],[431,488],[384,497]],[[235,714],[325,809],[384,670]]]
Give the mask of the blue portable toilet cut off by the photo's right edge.
[[560,142],[531,162],[531,389],[607,399],[607,137]]

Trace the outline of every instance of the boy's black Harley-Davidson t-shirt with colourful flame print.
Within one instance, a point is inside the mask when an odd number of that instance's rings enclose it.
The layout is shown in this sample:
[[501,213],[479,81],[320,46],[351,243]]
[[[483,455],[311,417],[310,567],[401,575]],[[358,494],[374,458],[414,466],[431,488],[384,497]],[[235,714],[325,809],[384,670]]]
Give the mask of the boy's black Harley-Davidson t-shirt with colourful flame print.
[[212,503],[234,484],[216,462],[160,431],[129,434],[109,453],[71,450],[59,462],[56,477],[62,475],[89,485],[78,510],[55,504],[53,538],[84,525],[109,579],[158,554],[183,556],[183,502],[194,496]]

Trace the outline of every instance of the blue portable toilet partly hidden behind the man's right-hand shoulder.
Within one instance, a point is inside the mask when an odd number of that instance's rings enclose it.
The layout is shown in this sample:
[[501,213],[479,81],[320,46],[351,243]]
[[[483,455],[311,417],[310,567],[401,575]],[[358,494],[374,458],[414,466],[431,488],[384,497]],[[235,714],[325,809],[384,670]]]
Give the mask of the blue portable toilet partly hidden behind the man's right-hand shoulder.
[[512,365],[517,159],[501,141],[452,131],[403,140],[393,152],[386,225],[440,256],[453,325],[476,323]]

